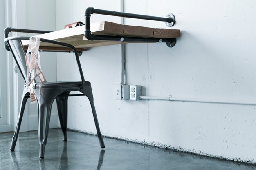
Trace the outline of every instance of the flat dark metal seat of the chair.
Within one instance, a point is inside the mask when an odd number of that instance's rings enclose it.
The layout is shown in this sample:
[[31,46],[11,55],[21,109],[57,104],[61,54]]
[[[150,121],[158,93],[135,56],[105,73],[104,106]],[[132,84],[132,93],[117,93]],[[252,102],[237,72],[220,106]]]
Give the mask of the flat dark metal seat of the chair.
[[[69,87],[79,87],[81,86],[82,82],[45,82],[42,84],[41,88],[69,88]],[[86,81],[83,86],[91,86],[91,83]],[[35,86],[36,89],[39,89],[39,83]]]

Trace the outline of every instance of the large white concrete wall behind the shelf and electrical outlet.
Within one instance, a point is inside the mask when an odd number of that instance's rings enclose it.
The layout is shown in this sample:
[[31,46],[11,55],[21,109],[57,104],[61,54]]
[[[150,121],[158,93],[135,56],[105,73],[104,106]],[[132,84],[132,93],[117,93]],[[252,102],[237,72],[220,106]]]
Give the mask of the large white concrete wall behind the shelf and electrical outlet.
[[[121,11],[119,0],[56,0],[56,28],[84,21],[87,7]],[[177,44],[126,45],[128,84],[142,94],[254,101],[256,95],[256,2],[197,0],[125,0],[124,11],[165,17],[173,13],[182,36]],[[94,14],[92,22],[120,18]],[[164,22],[125,19],[125,24],[167,28]],[[57,79],[79,79],[70,54],[57,55]],[[80,57],[85,79],[92,83],[103,135],[161,147],[255,162],[255,106],[118,101],[114,84],[121,81],[121,46],[92,48]],[[89,102],[69,99],[69,124],[96,133]],[[108,146],[106,146],[108,147]]]

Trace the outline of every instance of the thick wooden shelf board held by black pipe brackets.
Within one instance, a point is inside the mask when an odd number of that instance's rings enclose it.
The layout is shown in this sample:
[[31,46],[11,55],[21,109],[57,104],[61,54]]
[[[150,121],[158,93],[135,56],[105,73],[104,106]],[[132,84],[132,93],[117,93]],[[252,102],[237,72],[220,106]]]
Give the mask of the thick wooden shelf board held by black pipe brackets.
[[[149,27],[143,27],[143,26],[130,26],[130,25],[122,25],[122,24],[117,24],[117,23],[107,22],[107,21],[90,24],[90,29],[92,34],[95,34],[95,35],[119,35],[119,36],[144,37],[144,38],[177,38],[180,36],[180,30],[178,29],[157,29],[157,28],[149,28]],[[70,29],[63,29],[63,30],[54,31],[50,33],[40,34],[36,36],[40,38],[57,40],[60,42],[71,44],[76,48],[80,48],[80,51],[88,47],[134,43],[134,42],[116,42],[116,41],[106,41],[106,40],[93,40],[93,41],[87,40],[84,36],[84,30],[85,30],[85,25],[77,26]],[[26,49],[28,45],[28,40],[24,40],[22,41],[22,43]],[[49,47],[49,50],[50,49],[52,50],[53,48],[61,50],[60,48],[61,46],[58,46],[56,44],[49,44],[45,42],[40,43],[41,49],[43,48],[44,50],[47,50],[48,47]]]

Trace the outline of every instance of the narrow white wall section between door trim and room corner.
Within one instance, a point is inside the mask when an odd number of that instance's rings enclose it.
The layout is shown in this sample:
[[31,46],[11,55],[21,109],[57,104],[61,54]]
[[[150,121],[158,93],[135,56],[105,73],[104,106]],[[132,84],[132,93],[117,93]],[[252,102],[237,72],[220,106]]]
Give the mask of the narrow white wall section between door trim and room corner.
[[[27,29],[35,30],[46,30],[55,31],[56,21],[55,21],[55,2],[52,0],[27,0]],[[43,69],[43,73],[46,77],[47,82],[56,81],[56,53],[43,52],[40,53],[40,61]],[[35,124],[29,123],[29,130],[38,129],[38,115],[36,104],[31,104],[28,101],[28,116],[29,122],[35,122]],[[54,102],[52,107],[50,128],[58,127],[58,112],[56,108],[56,103]]]

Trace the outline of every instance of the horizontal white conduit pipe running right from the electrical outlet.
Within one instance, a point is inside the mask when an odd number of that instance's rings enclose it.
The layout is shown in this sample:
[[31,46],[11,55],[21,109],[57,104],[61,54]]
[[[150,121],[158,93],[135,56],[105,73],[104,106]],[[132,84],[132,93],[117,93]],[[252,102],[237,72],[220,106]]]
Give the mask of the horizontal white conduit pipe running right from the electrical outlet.
[[176,101],[176,102],[198,102],[198,103],[217,103],[217,104],[256,105],[256,102],[237,101],[237,100],[192,99],[192,98],[153,97],[153,96],[139,96],[138,98],[139,99],[168,100],[168,101]]

